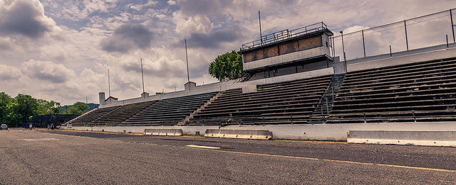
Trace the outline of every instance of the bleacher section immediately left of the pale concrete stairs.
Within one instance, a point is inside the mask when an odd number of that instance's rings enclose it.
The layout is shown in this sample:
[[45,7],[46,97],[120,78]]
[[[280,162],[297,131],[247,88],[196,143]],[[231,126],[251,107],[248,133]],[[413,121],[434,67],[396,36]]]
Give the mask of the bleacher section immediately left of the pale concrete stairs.
[[217,92],[157,101],[121,125],[177,125]]

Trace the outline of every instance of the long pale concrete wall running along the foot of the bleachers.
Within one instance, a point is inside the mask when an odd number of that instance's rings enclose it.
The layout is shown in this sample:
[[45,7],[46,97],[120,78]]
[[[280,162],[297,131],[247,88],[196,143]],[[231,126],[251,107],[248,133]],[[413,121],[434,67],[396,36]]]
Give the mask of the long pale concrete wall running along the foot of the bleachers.
[[[66,128],[66,127],[62,127]],[[206,129],[219,129],[217,125],[183,126],[96,126],[76,127],[70,130],[96,130],[106,132],[143,133],[145,129],[182,129],[184,135],[201,135]],[[230,130],[269,130],[275,139],[289,140],[347,140],[350,130],[456,130],[456,122],[434,123],[347,123],[347,124],[306,124],[306,125],[229,125]]]

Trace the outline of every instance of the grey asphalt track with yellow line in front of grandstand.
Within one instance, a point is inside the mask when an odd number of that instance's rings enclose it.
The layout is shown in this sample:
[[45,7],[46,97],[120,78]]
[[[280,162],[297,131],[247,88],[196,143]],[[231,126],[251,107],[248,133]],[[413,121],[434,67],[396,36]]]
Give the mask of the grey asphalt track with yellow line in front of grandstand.
[[0,130],[0,184],[159,183],[456,184],[456,148]]

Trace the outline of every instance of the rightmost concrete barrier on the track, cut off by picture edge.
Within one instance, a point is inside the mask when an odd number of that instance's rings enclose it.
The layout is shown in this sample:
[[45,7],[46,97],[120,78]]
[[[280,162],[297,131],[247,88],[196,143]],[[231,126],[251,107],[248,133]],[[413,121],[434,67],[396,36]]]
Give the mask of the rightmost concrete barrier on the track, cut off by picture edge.
[[350,130],[349,143],[456,147],[456,131]]

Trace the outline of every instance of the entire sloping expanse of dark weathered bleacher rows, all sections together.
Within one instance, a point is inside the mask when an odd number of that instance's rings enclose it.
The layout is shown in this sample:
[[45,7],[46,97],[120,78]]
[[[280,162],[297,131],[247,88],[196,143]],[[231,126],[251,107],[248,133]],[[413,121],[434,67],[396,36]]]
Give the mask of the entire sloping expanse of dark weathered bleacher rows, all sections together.
[[257,92],[253,93],[230,89],[98,108],[68,123],[237,125],[454,121],[455,69],[454,59],[366,69],[265,84],[257,86]]

